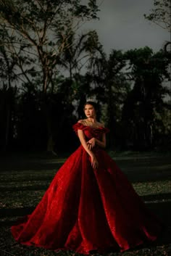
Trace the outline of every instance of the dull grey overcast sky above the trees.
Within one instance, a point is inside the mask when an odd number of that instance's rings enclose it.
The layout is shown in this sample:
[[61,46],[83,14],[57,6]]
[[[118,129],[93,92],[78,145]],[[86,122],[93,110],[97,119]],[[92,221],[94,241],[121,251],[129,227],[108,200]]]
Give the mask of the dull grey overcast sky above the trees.
[[154,51],[170,40],[170,33],[149,22],[143,14],[149,14],[154,0],[99,0],[100,20],[87,22],[83,28],[96,29],[104,51],[111,49],[151,47]]

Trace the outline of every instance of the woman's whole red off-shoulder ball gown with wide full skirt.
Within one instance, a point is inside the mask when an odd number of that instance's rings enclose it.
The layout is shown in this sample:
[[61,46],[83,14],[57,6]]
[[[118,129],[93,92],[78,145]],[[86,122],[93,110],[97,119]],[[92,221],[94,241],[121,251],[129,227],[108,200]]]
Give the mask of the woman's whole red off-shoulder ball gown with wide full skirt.
[[[107,128],[76,123],[86,139],[101,139]],[[46,249],[88,254],[109,248],[124,251],[154,241],[160,221],[146,208],[125,174],[99,146],[93,149],[99,168],[80,145],[70,155],[36,209],[12,226],[14,239]]]

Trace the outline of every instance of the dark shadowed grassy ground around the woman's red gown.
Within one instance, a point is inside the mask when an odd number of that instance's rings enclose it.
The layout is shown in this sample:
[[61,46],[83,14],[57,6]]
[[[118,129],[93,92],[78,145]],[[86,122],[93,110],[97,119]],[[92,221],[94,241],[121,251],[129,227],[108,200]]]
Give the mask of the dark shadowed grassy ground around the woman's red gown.
[[[165,223],[163,233],[151,244],[127,252],[111,252],[110,256],[171,255],[171,160],[170,154],[110,152],[117,165],[128,176],[135,190]],[[19,216],[36,207],[52,178],[64,162],[62,157],[46,154],[13,154],[1,158],[0,165],[0,255],[53,256],[77,255],[73,252],[51,252],[17,244],[10,226]],[[94,254],[95,255],[95,254]],[[97,254],[96,254],[97,256]]]

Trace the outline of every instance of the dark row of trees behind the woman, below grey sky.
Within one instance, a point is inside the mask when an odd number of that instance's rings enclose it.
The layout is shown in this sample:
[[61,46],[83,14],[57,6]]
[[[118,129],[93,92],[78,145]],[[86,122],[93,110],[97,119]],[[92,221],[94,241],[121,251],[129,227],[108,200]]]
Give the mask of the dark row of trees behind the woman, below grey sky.
[[[12,4],[13,3],[13,4]],[[171,149],[170,51],[104,52],[96,1],[1,1],[0,150],[70,152],[96,96],[111,150]]]

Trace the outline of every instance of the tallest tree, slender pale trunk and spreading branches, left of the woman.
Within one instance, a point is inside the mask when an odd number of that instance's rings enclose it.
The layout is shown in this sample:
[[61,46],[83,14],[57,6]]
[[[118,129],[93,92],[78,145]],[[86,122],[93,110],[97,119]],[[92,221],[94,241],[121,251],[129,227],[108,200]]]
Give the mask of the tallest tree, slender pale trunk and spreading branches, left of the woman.
[[[72,46],[73,42],[69,40],[72,32],[76,32],[85,20],[96,18],[96,1],[90,0],[87,4],[81,4],[78,0],[14,0],[12,3],[6,0],[0,1],[0,7],[1,24],[8,32],[12,31],[16,44],[17,41],[25,41],[22,47],[25,57],[29,53],[35,59],[31,68],[33,72],[37,71],[36,78],[42,85],[42,110],[49,133],[48,144],[51,144],[47,93],[53,93],[59,56]],[[32,75],[33,73],[30,73],[30,76]]]

